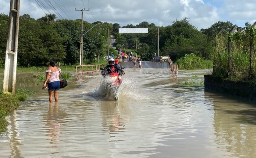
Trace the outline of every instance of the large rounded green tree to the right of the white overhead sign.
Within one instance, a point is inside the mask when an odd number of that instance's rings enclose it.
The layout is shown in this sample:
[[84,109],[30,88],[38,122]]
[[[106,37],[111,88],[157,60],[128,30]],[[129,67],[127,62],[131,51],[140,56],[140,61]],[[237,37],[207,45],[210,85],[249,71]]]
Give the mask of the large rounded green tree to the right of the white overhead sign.
[[160,38],[162,52],[169,55],[172,60],[190,53],[208,58],[208,53],[212,49],[212,47],[206,47],[211,46],[206,36],[192,26],[188,18],[177,20],[172,26],[165,27]]

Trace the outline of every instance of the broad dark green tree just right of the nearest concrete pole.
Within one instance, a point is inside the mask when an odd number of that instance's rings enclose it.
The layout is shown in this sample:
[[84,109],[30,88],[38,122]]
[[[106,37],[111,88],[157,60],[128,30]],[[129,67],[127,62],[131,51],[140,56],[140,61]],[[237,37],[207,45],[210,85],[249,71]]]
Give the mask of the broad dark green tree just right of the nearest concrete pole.
[[50,60],[62,61],[65,49],[53,25],[34,19],[21,19],[19,31],[19,66],[45,66]]

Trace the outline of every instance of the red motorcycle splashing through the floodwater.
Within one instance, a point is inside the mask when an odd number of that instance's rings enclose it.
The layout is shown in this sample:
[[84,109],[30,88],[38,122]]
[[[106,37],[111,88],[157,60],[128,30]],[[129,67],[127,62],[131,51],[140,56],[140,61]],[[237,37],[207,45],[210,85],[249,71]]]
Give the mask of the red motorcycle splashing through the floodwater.
[[[124,69],[124,67],[120,67],[121,69]],[[100,68],[100,70],[104,70],[103,67]],[[105,78],[106,86],[107,86],[107,95],[108,96],[114,96],[115,100],[118,100],[118,90],[122,83],[122,72],[119,70],[118,72],[104,72],[102,76]]]

